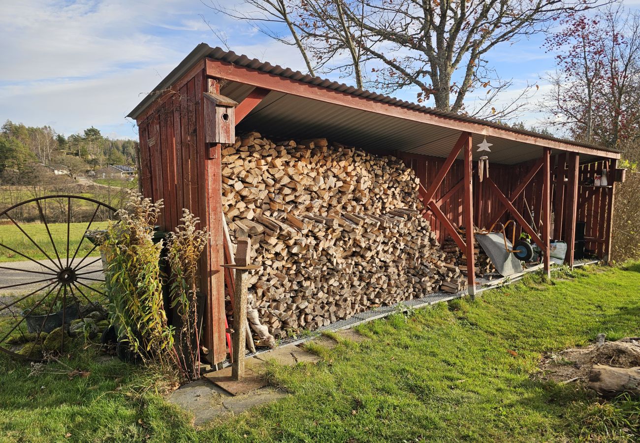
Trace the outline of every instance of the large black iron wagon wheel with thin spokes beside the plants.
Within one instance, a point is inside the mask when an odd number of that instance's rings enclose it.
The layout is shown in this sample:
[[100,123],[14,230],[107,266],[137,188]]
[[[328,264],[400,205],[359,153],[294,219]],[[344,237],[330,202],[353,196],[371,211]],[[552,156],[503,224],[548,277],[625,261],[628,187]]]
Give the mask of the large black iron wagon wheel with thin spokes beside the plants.
[[78,195],[32,198],[0,213],[0,351],[40,361],[70,348],[74,319],[106,312],[102,257],[90,232],[111,221],[114,207]]

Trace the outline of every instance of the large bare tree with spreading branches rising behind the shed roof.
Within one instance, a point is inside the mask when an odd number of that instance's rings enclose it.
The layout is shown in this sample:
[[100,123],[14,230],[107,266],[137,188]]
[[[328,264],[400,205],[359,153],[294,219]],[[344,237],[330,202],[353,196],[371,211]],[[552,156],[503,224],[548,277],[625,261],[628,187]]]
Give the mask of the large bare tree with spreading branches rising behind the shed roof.
[[[433,98],[435,108],[460,112],[465,97],[477,88],[490,88],[487,95],[493,99],[511,85],[486,60],[496,45],[546,30],[568,13],[608,2],[282,0],[287,17],[272,0],[246,0],[239,8],[213,2],[212,8],[262,29],[289,20],[300,35],[294,38],[296,43],[289,42],[298,46],[305,60],[314,60],[316,69],[337,70],[354,76],[356,83],[388,93],[414,86],[419,88],[419,102]],[[273,30],[271,35],[285,40]],[[370,73],[367,79],[364,72]],[[510,103],[489,115],[504,118],[512,111]]]

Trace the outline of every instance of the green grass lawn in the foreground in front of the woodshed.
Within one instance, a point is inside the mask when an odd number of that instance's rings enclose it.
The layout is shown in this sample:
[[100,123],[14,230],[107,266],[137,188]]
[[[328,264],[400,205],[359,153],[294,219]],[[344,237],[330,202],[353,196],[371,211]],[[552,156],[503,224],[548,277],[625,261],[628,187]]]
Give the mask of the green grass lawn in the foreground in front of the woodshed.
[[[291,396],[195,430],[164,402],[170,378],[92,351],[90,371],[29,376],[0,357],[0,440],[154,442],[637,441],[640,403],[598,403],[574,383],[531,379],[544,351],[640,335],[640,264],[541,277],[358,328],[316,366],[271,366]],[[61,367],[51,364],[51,367]],[[635,426],[635,427],[634,427]],[[625,431],[624,428],[628,430]],[[625,434],[635,432],[632,437]]]

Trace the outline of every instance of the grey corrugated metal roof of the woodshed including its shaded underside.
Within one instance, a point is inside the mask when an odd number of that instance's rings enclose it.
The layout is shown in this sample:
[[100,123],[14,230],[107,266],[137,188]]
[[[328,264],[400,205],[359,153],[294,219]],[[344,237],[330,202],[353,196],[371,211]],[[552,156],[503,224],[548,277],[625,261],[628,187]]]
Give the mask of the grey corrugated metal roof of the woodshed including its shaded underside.
[[[547,140],[569,143],[570,145],[589,147],[602,151],[603,156],[606,156],[607,152],[615,152],[613,150],[603,149],[602,147],[576,143],[571,140],[543,136],[532,133],[531,131],[511,129],[486,120],[435,111],[434,109],[426,108],[418,104],[356,89],[353,86],[347,86],[327,79],[312,77],[308,74],[305,75],[288,68],[273,66],[269,63],[262,63],[259,60],[250,59],[247,56],[238,56],[234,52],[223,51],[220,48],[211,48],[206,44],[198,45],[198,47],[154,89],[154,92],[147,95],[147,97],[131,111],[129,117],[138,117],[138,115],[159,96],[159,92],[179,81],[186,72],[203,58],[227,61],[228,63],[234,63],[234,65],[269,72],[269,74],[298,80],[310,85],[322,86],[394,106],[419,110],[424,113],[499,127],[500,129],[508,129],[513,133],[532,135]],[[251,85],[226,82],[223,83],[221,87],[221,94],[234,101],[241,102],[252,89],[253,86]],[[330,141],[337,141],[344,145],[353,145],[376,154],[390,154],[395,150],[400,150],[435,157],[446,157],[460,136],[460,130],[458,129],[413,122],[392,115],[381,115],[281,92],[270,92],[267,97],[240,122],[237,127],[237,132],[242,133],[245,131],[258,131],[275,140],[327,138]],[[474,134],[474,145],[483,141],[483,138],[484,136]],[[482,152],[479,154],[475,152],[476,149],[474,148],[474,159],[477,159],[483,154],[487,154],[493,163],[515,165],[523,161],[540,158],[543,154],[543,148],[532,143],[513,141],[495,136],[488,136],[487,141],[493,143],[491,147],[492,152]],[[561,151],[553,150],[553,152]],[[588,163],[597,158],[598,157],[594,155],[580,154],[580,163]]]

